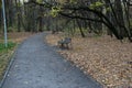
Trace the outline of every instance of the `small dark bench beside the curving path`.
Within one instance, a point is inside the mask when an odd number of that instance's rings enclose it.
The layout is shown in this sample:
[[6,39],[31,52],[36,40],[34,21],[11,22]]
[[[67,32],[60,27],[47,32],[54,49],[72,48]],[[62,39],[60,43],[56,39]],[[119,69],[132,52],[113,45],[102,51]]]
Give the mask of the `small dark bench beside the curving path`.
[[70,37],[65,37],[64,40],[58,41],[58,46],[61,48],[69,48],[69,44],[72,46],[72,38]]

